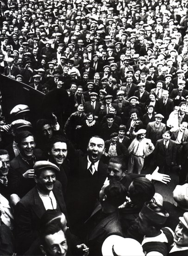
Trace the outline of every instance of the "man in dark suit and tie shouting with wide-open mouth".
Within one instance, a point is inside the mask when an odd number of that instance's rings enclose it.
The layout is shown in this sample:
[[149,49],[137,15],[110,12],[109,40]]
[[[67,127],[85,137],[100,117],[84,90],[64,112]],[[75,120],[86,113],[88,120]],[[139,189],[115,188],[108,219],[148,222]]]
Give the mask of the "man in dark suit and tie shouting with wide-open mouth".
[[104,140],[99,136],[92,137],[87,151],[87,154],[83,154],[81,150],[68,147],[73,177],[68,183],[67,208],[75,232],[83,231],[81,227],[94,210],[99,191],[107,177],[107,165],[101,161],[105,152]]

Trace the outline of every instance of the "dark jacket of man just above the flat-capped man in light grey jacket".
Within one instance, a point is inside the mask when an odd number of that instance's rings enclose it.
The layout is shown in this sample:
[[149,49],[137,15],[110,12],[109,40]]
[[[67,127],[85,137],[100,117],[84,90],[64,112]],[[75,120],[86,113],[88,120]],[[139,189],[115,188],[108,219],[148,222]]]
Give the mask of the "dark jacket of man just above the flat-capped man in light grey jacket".
[[158,104],[156,105],[156,112],[160,113],[164,116],[164,121],[167,121],[170,113],[174,109],[174,101],[169,99],[166,102],[166,105],[163,104],[163,97],[158,100]]

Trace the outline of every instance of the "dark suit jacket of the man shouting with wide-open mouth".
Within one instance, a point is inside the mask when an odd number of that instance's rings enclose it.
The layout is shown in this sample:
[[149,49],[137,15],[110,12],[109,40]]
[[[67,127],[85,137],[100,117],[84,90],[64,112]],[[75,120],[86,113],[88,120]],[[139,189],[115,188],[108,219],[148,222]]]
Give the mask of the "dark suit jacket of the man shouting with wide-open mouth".
[[83,223],[94,210],[100,189],[107,178],[107,164],[100,160],[97,171],[92,175],[88,170],[88,154],[75,150],[71,145],[69,160],[72,176],[68,184],[67,208],[73,228],[81,231]]

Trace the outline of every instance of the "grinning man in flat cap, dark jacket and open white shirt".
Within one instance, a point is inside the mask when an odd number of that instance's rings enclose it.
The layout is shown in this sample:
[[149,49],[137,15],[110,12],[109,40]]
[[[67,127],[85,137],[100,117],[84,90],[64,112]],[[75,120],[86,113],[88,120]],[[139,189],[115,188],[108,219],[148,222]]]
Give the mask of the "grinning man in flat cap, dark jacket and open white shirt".
[[39,236],[40,218],[47,209],[58,209],[67,216],[60,182],[56,181],[59,168],[48,161],[34,165],[31,189],[16,205],[15,226],[18,253],[24,253]]

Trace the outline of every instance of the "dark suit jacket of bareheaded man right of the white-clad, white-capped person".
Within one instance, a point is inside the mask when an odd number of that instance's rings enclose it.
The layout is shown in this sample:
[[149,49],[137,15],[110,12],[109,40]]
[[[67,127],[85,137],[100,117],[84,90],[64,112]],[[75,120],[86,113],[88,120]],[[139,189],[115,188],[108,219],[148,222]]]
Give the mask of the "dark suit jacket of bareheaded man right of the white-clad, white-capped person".
[[158,140],[155,146],[155,161],[157,166],[163,167],[166,163],[168,166],[171,166],[171,163],[175,163],[176,157],[176,144],[175,141],[169,140],[168,148],[164,148],[164,140]]

